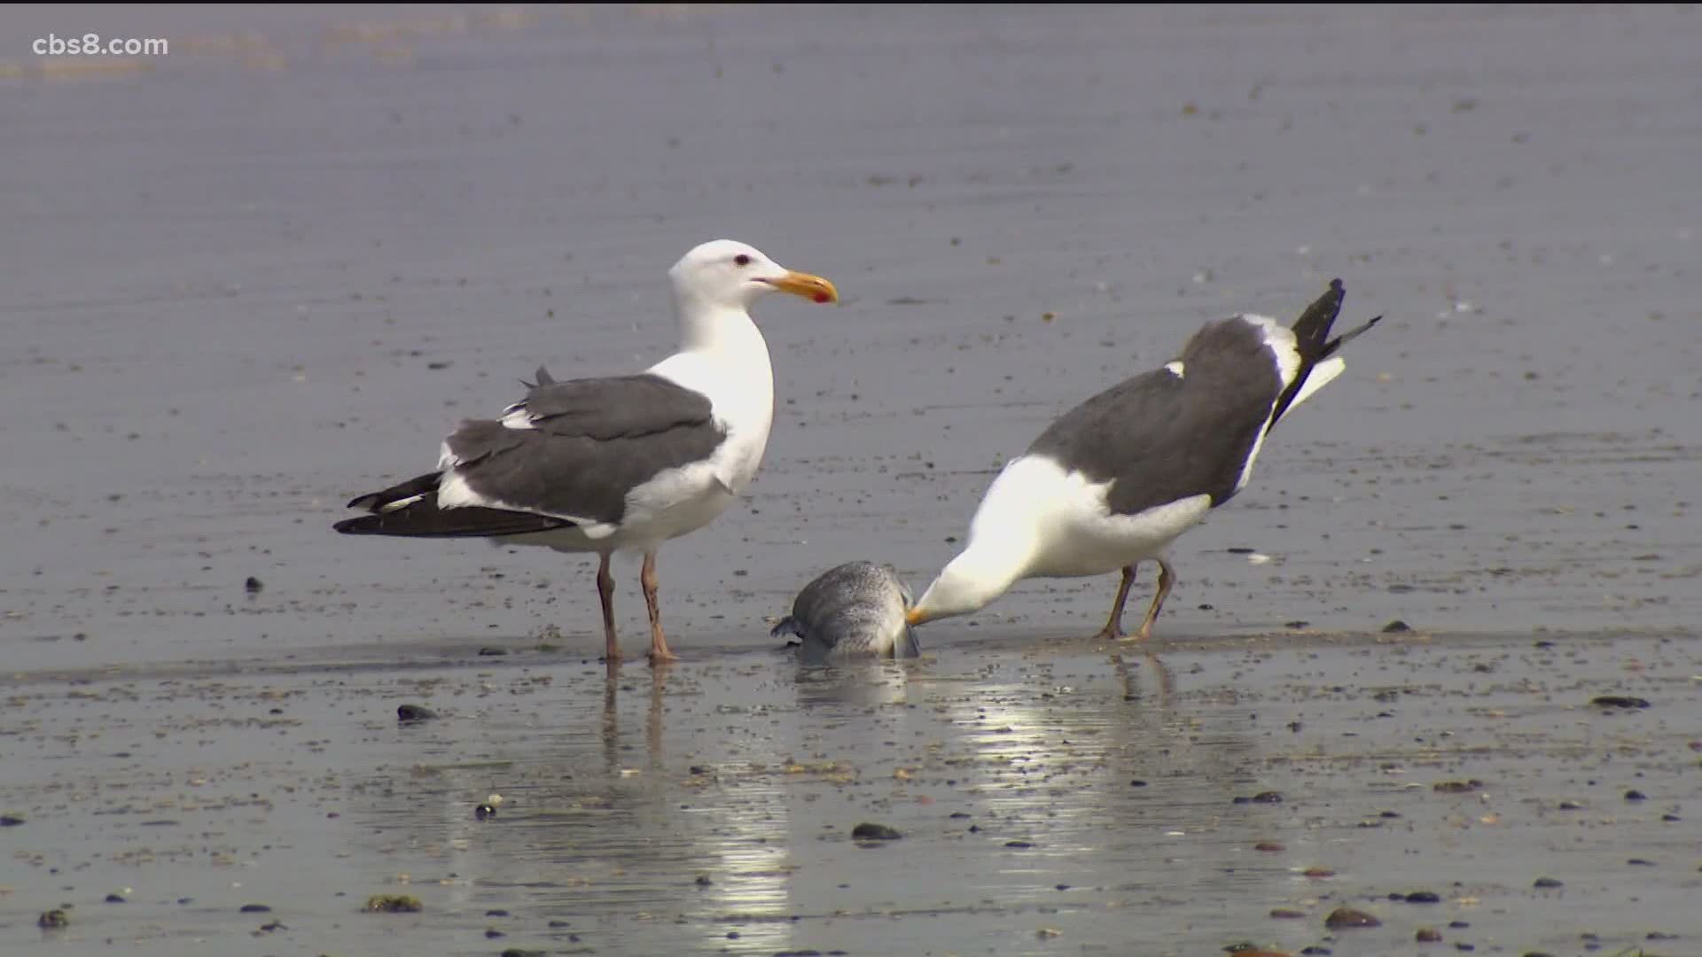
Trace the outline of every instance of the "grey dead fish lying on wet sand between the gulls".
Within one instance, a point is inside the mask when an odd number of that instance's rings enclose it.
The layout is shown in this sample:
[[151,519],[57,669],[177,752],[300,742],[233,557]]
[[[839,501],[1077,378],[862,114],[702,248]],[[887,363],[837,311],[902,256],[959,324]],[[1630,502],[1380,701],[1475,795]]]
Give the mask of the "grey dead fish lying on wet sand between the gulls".
[[904,622],[912,603],[892,565],[846,562],[803,586],[771,635],[797,635],[805,661],[916,657],[921,647]]

